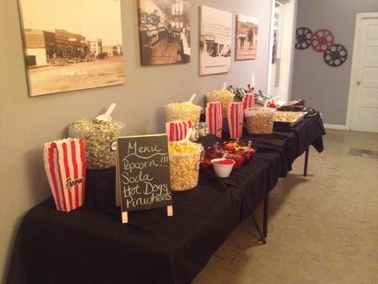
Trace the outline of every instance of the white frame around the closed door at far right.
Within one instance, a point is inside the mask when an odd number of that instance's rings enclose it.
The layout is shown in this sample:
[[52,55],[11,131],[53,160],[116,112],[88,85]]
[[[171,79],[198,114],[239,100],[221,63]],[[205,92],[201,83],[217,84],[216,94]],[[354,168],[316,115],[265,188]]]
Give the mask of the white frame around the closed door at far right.
[[353,56],[352,56],[352,67],[350,72],[350,84],[349,84],[349,94],[348,94],[348,109],[347,109],[347,121],[346,130],[352,130],[352,104],[355,101],[356,87],[358,81],[358,64],[360,58],[358,57],[360,50],[360,29],[362,25],[362,20],[369,18],[378,18],[378,13],[357,13],[356,25],[355,25],[355,38],[353,42]]

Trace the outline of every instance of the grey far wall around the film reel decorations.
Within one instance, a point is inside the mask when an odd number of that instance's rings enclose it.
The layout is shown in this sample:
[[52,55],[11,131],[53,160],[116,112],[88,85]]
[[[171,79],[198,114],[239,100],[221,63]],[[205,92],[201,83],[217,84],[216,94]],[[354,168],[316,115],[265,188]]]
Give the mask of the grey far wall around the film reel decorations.
[[323,113],[326,124],[346,124],[352,49],[356,13],[378,12],[377,0],[299,0],[297,28],[313,32],[326,28],[335,43],[345,45],[348,60],[340,67],[329,67],[323,53],[311,47],[295,50],[291,98],[303,98],[308,106]]

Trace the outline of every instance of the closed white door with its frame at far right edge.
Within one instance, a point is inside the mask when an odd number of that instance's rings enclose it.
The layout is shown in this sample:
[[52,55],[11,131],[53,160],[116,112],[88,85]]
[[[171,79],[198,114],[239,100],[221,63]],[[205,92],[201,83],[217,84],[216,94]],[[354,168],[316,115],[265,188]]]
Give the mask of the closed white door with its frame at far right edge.
[[357,14],[350,129],[378,132],[378,13]]

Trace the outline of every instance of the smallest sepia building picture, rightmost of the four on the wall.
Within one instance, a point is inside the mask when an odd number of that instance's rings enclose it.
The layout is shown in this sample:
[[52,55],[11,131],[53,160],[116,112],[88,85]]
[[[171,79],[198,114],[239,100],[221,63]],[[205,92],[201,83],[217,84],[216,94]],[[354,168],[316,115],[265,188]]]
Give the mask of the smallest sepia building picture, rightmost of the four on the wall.
[[235,60],[256,59],[258,35],[258,18],[236,16]]

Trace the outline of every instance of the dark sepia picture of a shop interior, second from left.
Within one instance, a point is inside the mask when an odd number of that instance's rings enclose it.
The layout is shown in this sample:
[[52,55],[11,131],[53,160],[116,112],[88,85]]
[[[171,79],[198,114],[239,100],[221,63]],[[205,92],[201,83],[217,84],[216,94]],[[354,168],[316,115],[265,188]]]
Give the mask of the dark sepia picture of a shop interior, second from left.
[[182,0],[138,0],[142,65],[190,62],[190,4]]

